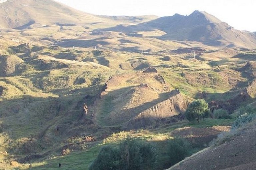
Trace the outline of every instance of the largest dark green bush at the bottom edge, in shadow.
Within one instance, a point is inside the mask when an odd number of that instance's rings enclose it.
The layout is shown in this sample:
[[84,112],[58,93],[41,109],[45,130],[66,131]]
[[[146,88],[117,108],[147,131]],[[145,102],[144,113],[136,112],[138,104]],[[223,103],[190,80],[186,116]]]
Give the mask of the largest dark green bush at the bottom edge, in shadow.
[[155,147],[139,140],[127,138],[117,147],[103,146],[90,166],[90,170],[144,170],[155,169]]

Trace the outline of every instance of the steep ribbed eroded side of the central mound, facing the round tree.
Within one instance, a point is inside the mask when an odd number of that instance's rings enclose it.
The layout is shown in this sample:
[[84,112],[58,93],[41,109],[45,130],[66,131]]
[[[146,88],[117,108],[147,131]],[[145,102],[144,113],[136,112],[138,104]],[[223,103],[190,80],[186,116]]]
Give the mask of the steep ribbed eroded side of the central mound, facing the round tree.
[[171,118],[184,112],[187,108],[187,102],[179,90],[172,90],[169,96],[167,100],[139,113],[135,118],[128,121],[123,128],[145,128],[161,121],[161,119]]

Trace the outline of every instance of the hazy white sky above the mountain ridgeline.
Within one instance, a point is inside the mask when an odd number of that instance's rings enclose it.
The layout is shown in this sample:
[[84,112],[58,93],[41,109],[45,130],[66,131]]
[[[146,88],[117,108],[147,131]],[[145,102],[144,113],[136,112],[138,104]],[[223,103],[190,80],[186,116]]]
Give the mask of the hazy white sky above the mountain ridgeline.
[[56,0],[97,15],[189,15],[205,11],[239,30],[256,31],[256,0]]

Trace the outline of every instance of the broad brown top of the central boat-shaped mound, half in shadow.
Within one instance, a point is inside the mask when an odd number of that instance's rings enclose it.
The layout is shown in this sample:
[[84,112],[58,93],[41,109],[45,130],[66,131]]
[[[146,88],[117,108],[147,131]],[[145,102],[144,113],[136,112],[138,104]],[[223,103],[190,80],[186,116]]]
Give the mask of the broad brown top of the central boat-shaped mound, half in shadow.
[[[109,126],[122,124],[167,100],[170,97],[169,91],[163,77],[156,73],[137,72],[115,75],[100,91],[93,103],[92,112],[95,115],[94,118],[101,120],[104,124]],[[164,106],[161,106],[161,109],[162,107]],[[182,109],[184,109],[183,106],[180,107],[180,110]],[[173,109],[173,112],[179,114],[180,110]],[[160,116],[160,118],[163,117]]]

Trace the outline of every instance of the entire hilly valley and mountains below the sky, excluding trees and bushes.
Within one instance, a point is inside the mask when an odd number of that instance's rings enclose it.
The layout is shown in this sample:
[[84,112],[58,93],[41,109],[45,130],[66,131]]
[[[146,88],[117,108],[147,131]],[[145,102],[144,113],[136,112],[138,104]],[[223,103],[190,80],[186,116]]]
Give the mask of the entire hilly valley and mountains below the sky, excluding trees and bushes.
[[[191,147],[171,169],[254,165],[252,152],[235,164],[217,159],[239,147],[240,134],[254,139],[253,116],[234,130],[256,110],[254,33],[200,11],[97,16],[52,0],[9,0],[0,14],[0,169],[89,169],[102,147],[127,138],[154,145],[158,169],[174,165],[166,156],[174,139]],[[184,114],[196,99],[210,109],[200,124]],[[220,108],[227,119],[214,118]],[[213,148],[220,166],[210,158],[196,166]]]

